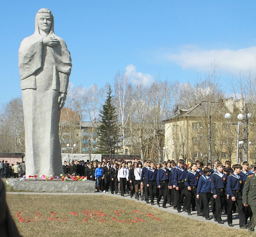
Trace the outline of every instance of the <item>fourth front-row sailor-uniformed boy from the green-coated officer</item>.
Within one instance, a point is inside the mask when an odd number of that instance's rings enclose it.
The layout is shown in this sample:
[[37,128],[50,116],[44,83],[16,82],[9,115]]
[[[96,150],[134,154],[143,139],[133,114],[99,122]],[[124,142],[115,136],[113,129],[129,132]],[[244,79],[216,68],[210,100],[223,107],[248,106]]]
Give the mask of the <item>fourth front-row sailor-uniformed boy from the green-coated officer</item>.
[[[191,216],[191,202],[192,199],[195,200],[196,202],[196,211],[197,211],[197,216],[202,216],[202,212],[200,212],[200,204],[199,204],[199,199],[196,198],[196,190],[197,190],[197,183],[199,180],[199,173],[196,171],[197,165],[196,163],[192,163],[190,165],[191,170],[187,173],[184,185],[187,187],[187,207],[186,210],[188,212],[188,215]],[[184,209],[184,207],[183,207]]]

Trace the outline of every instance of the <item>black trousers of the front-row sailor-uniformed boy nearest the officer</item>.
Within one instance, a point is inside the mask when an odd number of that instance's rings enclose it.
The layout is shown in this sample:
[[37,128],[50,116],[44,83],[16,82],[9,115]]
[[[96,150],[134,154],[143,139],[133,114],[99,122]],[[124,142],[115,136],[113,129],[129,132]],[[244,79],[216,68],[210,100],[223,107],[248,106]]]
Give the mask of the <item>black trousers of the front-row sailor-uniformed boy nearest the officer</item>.
[[233,209],[233,203],[236,202],[237,206],[237,213],[239,218],[239,226],[245,225],[245,217],[243,213],[243,200],[242,200],[242,192],[239,190],[232,190],[232,193],[234,197],[236,198],[236,201],[232,201],[231,196],[228,197],[228,224],[232,224],[233,215],[232,215],[232,209]]

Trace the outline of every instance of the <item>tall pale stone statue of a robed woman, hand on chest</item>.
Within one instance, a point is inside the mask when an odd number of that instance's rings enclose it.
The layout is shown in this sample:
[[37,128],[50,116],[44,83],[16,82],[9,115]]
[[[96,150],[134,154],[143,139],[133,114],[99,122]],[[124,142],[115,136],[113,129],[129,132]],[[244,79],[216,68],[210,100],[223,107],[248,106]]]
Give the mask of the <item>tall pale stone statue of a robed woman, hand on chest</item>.
[[40,9],[35,33],[23,39],[19,49],[27,175],[62,173],[59,120],[72,64],[53,23],[52,12]]

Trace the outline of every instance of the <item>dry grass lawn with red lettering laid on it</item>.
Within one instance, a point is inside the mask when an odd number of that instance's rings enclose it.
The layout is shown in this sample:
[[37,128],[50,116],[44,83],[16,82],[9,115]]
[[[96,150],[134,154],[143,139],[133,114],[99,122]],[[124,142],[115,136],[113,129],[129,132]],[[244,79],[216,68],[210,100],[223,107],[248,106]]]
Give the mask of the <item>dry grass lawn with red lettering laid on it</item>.
[[22,236],[255,236],[104,195],[7,194]]

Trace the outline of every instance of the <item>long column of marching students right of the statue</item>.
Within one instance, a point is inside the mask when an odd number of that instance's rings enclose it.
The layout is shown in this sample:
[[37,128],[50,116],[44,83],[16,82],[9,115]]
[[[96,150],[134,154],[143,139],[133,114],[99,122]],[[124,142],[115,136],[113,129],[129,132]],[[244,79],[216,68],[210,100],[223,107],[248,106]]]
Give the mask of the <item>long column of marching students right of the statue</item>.
[[[254,169],[256,171],[256,163],[249,167],[248,162],[243,162],[242,166],[235,164],[231,167],[230,161],[223,165],[215,160],[204,166],[200,161],[185,164],[182,159],[177,164],[173,160],[162,164],[147,160],[142,164],[137,159],[134,162],[115,160],[113,163],[110,160],[76,160],[70,165],[63,164],[64,174],[85,176],[95,181],[95,192],[108,193],[110,189],[111,194],[128,194],[151,205],[156,201],[159,207],[163,198],[163,208],[177,209],[179,213],[185,211],[188,215],[196,211],[197,216],[206,220],[211,218],[210,206],[214,221],[224,224],[223,213],[227,215],[229,226],[233,226],[233,213],[237,212],[240,228],[251,231],[254,231],[252,210],[242,197],[246,178],[253,176],[255,179]],[[247,194],[248,190],[244,195]],[[250,225],[247,225],[248,219]]]

